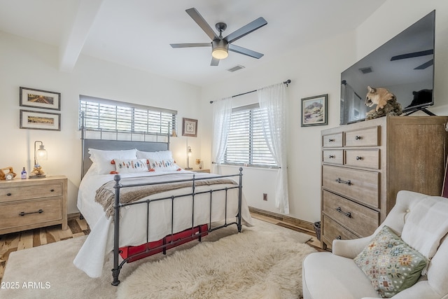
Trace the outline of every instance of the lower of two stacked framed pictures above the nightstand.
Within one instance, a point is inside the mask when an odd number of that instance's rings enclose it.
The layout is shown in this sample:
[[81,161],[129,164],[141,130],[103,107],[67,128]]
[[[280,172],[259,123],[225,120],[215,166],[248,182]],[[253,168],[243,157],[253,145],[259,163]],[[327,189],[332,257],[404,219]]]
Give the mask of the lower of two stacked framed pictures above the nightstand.
[[61,114],[20,110],[20,129],[61,130]]

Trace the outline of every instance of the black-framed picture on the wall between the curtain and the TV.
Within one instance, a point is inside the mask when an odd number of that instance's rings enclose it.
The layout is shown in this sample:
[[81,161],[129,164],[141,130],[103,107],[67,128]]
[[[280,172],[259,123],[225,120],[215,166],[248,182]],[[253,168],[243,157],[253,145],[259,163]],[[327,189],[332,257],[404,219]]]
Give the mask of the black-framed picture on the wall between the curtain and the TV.
[[302,127],[327,125],[327,95],[302,99]]

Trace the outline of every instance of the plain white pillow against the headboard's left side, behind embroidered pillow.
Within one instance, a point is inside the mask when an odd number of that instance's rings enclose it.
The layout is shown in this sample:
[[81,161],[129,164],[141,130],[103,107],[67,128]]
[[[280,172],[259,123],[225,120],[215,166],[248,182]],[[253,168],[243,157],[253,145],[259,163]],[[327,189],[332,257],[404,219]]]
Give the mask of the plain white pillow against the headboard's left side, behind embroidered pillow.
[[92,160],[92,174],[110,174],[115,171],[114,159],[131,160],[137,158],[137,149],[125,151],[104,151],[89,148],[90,160]]

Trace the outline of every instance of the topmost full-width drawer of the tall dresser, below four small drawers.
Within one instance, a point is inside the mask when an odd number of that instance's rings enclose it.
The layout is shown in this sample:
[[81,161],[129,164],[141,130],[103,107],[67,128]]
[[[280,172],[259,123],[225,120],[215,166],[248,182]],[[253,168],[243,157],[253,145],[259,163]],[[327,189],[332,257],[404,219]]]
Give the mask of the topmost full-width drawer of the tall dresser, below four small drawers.
[[323,165],[322,186],[371,207],[379,207],[379,173]]

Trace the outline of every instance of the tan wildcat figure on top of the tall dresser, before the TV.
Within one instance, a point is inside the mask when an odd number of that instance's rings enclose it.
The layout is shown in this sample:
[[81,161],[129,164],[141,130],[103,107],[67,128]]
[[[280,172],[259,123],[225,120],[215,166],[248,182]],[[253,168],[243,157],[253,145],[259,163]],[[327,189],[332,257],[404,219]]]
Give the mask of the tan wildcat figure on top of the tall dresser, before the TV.
[[402,113],[401,104],[392,92],[386,88],[371,88],[367,86],[367,95],[365,96],[365,105],[372,107],[377,105],[366,113],[365,120],[380,118],[381,116],[399,116]]

